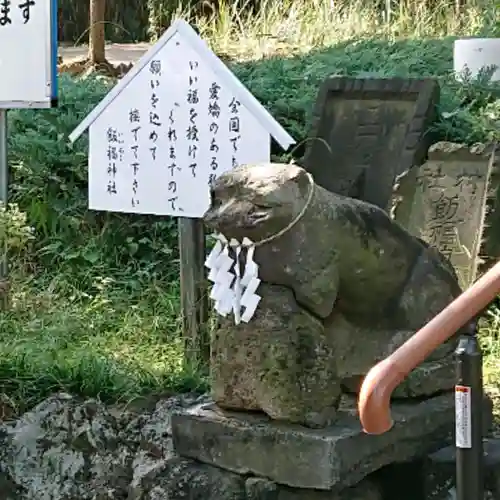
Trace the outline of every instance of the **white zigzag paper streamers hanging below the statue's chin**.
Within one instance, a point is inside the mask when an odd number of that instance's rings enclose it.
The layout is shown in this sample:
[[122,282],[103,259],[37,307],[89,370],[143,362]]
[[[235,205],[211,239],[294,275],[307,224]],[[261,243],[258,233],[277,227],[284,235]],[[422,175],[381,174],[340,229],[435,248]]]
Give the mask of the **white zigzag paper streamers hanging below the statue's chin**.
[[259,266],[253,260],[255,244],[248,238],[240,243],[234,238],[228,241],[222,234],[214,237],[217,241],[205,261],[209,269],[208,279],[213,283],[210,298],[221,316],[232,312],[237,325],[242,321],[248,323],[261,300],[256,293],[260,279]]

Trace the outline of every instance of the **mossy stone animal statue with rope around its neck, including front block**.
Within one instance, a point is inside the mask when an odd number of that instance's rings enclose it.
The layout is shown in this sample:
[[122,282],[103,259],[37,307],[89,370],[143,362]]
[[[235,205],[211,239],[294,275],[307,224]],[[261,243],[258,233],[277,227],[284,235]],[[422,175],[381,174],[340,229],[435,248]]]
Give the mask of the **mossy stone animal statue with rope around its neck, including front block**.
[[[370,367],[461,293],[441,254],[381,209],[315,185],[299,166],[238,167],[211,196],[204,222],[256,242],[262,280],[250,322],[221,318],[212,337],[221,408],[327,426],[343,393],[356,393]],[[455,346],[456,338],[436,350],[395,395],[452,388]]]

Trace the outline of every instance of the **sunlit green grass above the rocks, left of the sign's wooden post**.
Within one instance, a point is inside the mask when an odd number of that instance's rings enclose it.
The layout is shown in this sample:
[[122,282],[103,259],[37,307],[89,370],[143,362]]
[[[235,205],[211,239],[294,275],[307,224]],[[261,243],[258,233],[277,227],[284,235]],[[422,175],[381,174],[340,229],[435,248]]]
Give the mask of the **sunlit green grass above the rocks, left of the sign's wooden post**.
[[15,284],[12,308],[0,318],[0,376],[16,402],[29,406],[61,389],[128,399],[200,383],[182,367],[175,283],[133,301],[104,280],[93,295],[58,292],[40,279]]

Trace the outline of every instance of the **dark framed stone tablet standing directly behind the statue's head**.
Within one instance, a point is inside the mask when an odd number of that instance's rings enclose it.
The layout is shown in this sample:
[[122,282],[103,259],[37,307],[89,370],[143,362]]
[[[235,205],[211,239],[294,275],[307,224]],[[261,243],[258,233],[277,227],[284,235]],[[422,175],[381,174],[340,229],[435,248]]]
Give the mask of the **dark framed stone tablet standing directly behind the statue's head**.
[[304,167],[328,191],[386,210],[395,177],[425,160],[438,100],[431,79],[330,77],[318,94]]

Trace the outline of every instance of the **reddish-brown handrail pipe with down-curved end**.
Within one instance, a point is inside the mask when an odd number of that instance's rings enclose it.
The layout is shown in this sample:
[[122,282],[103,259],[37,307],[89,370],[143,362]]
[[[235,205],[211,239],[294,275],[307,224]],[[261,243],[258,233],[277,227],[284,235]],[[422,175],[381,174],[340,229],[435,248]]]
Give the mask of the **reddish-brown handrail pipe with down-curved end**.
[[499,291],[500,262],[368,372],[358,401],[359,417],[366,433],[383,434],[391,429],[390,400],[394,389],[432,351],[481,312]]

